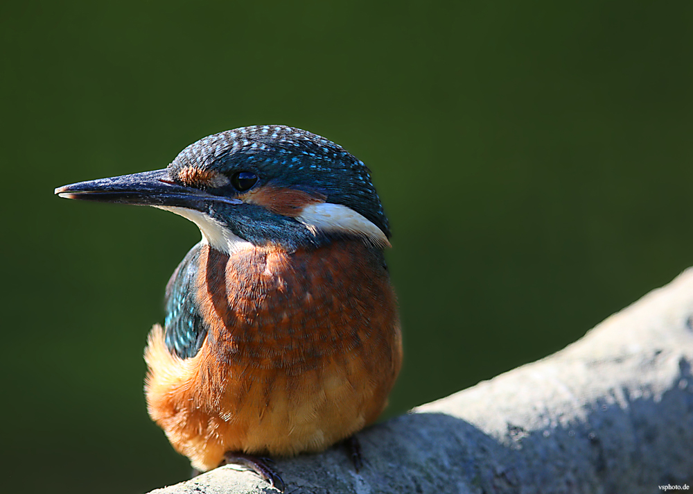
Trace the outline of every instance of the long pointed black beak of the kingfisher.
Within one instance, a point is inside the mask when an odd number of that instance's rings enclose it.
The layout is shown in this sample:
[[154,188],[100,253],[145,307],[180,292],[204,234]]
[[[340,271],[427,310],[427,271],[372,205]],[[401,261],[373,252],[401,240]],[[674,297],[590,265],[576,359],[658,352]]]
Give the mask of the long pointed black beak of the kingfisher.
[[100,178],[55,189],[55,194],[67,199],[121,203],[142,206],[177,206],[202,210],[210,200],[238,204],[241,201],[213,196],[195,187],[178,185],[168,171],[155,170],[119,177]]

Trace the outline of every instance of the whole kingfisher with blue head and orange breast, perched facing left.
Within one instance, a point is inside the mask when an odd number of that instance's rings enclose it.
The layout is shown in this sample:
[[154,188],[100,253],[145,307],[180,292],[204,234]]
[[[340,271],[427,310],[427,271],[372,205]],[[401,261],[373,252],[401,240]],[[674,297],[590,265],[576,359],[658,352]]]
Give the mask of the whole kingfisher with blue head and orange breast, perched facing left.
[[340,441],[358,469],[354,434],[385,408],[402,361],[389,224],[363,162],[306,130],[250,126],[165,169],[55,194],[200,228],[144,351],[148,413],[195,470],[236,463],[283,490],[272,457]]

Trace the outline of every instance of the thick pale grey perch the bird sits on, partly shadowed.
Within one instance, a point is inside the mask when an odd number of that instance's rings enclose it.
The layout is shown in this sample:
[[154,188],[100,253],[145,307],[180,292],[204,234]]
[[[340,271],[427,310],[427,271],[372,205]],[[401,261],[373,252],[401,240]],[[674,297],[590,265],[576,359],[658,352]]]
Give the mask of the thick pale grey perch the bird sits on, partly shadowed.
[[[693,269],[556,354],[280,460],[287,493],[653,493],[693,484]],[[689,489],[690,491],[690,489]],[[225,466],[152,493],[276,492]]]

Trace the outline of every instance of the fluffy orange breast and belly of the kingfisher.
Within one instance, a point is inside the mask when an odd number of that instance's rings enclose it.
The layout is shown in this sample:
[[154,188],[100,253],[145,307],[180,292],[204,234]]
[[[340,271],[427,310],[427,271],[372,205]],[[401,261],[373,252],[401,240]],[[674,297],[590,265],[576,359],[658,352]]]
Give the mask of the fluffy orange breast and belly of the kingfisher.
[[145,352],[150,416],[195,468],[229,450],[323,450],[383,411],[402,347],[377,251],[203,246],[197,289],[209,324],[198,355],[171,355],[159,325]]

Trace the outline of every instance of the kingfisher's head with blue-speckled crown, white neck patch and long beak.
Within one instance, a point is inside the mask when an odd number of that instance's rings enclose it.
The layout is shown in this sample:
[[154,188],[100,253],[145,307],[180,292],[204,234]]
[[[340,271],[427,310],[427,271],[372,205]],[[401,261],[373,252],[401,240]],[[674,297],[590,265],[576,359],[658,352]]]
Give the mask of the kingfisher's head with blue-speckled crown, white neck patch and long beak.
[[389,246],[365,164],[324,137],[286,126],[204,137],[165,169],[65,185],[55,194],[173,211],[225,252],[247,243],[295,250],[342,237]]

